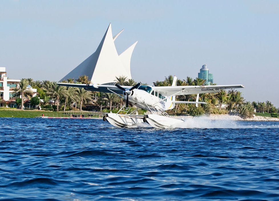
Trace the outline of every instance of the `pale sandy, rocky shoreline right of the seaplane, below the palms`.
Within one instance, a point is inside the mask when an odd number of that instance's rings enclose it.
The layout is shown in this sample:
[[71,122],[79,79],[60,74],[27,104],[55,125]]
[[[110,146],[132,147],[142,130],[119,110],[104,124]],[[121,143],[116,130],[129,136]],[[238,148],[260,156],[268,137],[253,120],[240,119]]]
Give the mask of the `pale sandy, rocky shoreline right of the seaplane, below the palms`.
[[[254,116],[253,118],[242,119],[240,116],[231,116],[229,114],[211,114],[206,116],[211,120],[234,120],[234,121],[279,121],[279,118]],[[183,118],[193,118],[193,116],[183,116]]]

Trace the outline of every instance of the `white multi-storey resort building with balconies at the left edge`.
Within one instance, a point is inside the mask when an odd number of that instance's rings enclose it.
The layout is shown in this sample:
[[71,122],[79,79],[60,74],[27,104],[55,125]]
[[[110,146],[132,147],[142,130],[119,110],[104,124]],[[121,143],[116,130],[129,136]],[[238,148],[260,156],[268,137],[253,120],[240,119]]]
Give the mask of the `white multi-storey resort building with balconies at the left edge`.
[[[17,107],[15,100],[21,95],[16,95],[19,87],[19,79],[8,79],[5,67],[0,67],[0,106],[1,107]],[[37,89],[33,89],[30,85],[27,87],[33,92],[32,95],[24,97],[25,105],[30,107],[30,98],[37,96]]]

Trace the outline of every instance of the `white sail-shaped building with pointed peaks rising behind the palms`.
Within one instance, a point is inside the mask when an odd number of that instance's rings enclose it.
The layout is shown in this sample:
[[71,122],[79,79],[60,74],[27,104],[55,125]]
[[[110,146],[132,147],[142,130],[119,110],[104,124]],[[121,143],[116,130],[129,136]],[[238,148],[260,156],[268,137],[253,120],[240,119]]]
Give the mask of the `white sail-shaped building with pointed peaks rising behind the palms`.
[[91,80],[92,84],[112,83],[115,82],[115,77],[119,76],[125,76],[127,79],[132,79],[130,61],[133,50],[138,41],[118,55],[114,40],[122,31],[123,29],[112,37],[110,24],[96,52],[75,67],[60,81],[69,78],[78,79],[80,75],[88,76],[88,79]]

